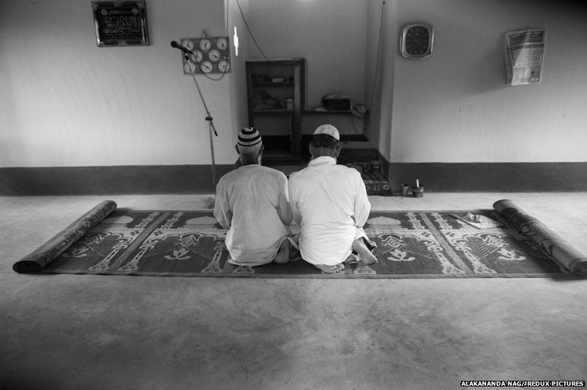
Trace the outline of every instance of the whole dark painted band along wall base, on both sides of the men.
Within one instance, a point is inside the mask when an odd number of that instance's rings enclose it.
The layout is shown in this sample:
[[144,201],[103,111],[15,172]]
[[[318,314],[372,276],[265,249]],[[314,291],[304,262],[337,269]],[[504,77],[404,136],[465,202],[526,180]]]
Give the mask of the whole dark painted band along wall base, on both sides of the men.
[[[402,183],[426,192],[587,191],[584,163],[389,163],[382,170],[399,192]],[[216,180],[232,170],[217,165]],[[101,166],[0,168],[0,195],[212,194],[212,166]]]

